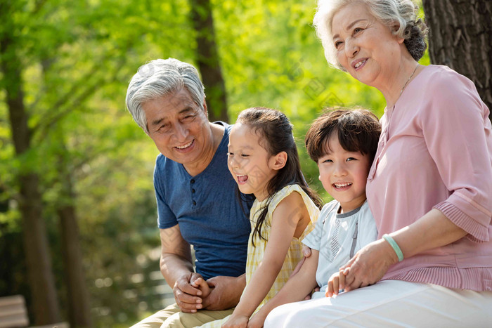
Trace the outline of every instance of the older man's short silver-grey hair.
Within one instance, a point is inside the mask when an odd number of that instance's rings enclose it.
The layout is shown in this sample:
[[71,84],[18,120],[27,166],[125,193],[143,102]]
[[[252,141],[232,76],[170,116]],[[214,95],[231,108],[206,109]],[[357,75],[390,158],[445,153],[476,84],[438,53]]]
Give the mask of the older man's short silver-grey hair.
[[[138,126],[149,133],[147,117],[142,104],[162,96],[168,96],[186,88],[193,101],[202,109],[205,88],[193,65],[174,58],[156,59],[138,68],[127,90],[127,109]],[[176,99],[179,101],[179,99]]]

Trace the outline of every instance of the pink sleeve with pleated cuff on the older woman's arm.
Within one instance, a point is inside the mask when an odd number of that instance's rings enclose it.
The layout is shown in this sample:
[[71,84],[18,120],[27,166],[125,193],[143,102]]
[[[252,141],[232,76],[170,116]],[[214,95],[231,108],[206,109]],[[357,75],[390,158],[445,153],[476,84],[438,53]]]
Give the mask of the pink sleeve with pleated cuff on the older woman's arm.
[[[474,242],[489,240],[492,218],[492,134],[488,108],[472,81],[440,70],[429,83],[422,131],[446,188],[436,204]],[[425,190],[423,190],[425,192]]]

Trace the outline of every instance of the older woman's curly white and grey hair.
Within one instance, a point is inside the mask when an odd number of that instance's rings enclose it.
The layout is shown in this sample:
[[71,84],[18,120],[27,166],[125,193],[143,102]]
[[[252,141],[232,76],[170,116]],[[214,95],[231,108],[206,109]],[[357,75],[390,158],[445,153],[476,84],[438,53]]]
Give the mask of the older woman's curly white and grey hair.
[[[425,51],[425,28],[420,27],[417,18],[417,6],[411,0],[318,0],[318,9],[313,19],[316,34],[321,39],[325,49],[325,57],[328,63],[344,70],[339,65],[336,57],[335,44],[333,44],[332,22],[333,16],[344,6],[353,3],[365,4],[371,15],[380,20],[387,27],[399,26],[394,34],[406,39],[405,45],[413,58],[422,58]],[[396,23],[396,24],[395,24]],[[415,40],[410,40],[413,38]],[[422,50],[423,46],[423,50]]]

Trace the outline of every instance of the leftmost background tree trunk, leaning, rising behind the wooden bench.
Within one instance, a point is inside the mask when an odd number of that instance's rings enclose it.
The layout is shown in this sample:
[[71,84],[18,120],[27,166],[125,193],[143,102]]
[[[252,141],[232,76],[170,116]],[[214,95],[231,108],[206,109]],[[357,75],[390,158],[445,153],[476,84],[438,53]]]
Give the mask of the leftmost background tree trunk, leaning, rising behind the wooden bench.
[[[15,55],[11,36],[4,34],[0,40],[0,48],[1,70],[4,74],[4,88],[13,144],[15,154],[21,157],[30,150],[31,140],[22,93],[21,65]],[[36,324],[60,322],[60,308],[51,270],[46,227],[41,217],[39,178],[36,173],[22,167],[18,181],[20,183],[20,212],[22,214],[27,271],[34,306],[34,322]]]

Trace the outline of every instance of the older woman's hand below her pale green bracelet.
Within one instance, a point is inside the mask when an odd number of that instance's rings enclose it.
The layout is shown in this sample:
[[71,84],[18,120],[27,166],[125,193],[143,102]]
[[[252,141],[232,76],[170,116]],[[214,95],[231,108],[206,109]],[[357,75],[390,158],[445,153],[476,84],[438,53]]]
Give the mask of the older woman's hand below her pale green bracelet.
[[386,240],[371,242],[340,268],[344,280],[339,280],[339,289],[351,291],[375,284],[381,280],[389,266],[397,262],[398,256]]

